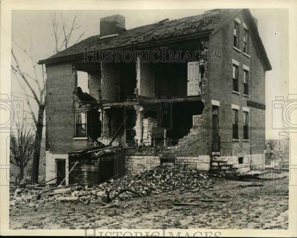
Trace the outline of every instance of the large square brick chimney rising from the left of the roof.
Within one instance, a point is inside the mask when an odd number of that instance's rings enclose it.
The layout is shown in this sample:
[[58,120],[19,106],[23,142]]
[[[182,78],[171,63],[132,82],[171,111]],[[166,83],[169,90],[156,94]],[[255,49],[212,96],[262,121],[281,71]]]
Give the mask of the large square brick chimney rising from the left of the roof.
[[100,18],[100,36],[119,34],[124,31],[126,31],[125,17],[122,15]]

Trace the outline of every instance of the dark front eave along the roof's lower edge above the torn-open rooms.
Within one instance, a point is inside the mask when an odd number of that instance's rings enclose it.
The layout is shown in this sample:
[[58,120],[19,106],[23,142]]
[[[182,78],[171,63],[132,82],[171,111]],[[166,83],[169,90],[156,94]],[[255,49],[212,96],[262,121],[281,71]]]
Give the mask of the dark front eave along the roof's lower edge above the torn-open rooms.
[[[156,41],[156,42],[148,42],[148,43],[143,43],[143,44],[141,44],[141,43],[140,44],[130,44],[130,45],[126,45],[126,46],[119,46],[119,47],[113,47],[113,48],[102,49],[102,50],[141,49],[141,48],[145,48],[145,47],[149,47],[149,46],[162,45],[164,43],[173,43],[176,41],[190,40],[190,39],[195,39],[197,37],[208,36],[208,35],[211,35],[211,33],[213,31],[214,31],[214,29],[208,29],[206,31],[200,31],[199,33],[185,35],[185,36],[177,37],[174,39],[167,39],[167,40]],[[68,60],[77,60],[77,59],[80,59],[83,57],[84,57],[84,53],[82,52],[79,54],[73,54],[73,55],[55,57],[55,58],[51,58],[51,59],[39,60],[38,64],[56,63],[56,62],[68,61]]]

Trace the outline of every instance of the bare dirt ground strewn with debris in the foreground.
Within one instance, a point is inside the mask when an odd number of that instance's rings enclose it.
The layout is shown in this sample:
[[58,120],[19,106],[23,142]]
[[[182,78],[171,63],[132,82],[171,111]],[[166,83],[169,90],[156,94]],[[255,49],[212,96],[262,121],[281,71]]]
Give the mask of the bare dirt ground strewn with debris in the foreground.
[[[278,174],[288,181],[288,172]],[[261,181],[213,178],[213,188],[192,194],[154,195],[102,203],[45,204],[10,210],[10,229],[288,229],[288,187],[285,195],[253,195]],[[247,186],[247,185],[258,186]],[[245,187],[242,187],[245,186]],[[178,192],[177,192],[178,193]],[[220,202],[192,201],[221,200]],[[195,203],[196,205],[174,205]],[[110,206],[111,205],[111,206]],[[274,226],[274,227],[272,227]]]

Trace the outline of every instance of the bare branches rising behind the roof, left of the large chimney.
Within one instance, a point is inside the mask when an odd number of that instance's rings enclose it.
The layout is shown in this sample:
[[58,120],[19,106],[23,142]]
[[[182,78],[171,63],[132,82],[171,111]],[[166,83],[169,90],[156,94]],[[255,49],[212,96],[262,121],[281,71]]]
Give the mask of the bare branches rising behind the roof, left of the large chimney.
[[[54,32],[54,37],[55,37],[55,43],[56,43],[56,53],[58,53],[62,47],[64,46],[65,49],[69,46],[69,40],[71,39],[72,33],[75,30],[78,30],[83,23],[81,23],[81,13],[82,11],[76,11],[74,13],[73,20],[67,21],[63,14],[60,14],[61,17],[61,22],[59,22],[58,17],[57,17],[57,11],[54,11],[53,13],[50,12],[50,17],[52,20],[52,25],[53,25],[53,32]],[[70,27],[69,27],[70,25]],[[83,34],[86,31],[84,31],[78,39],[75,41],[74,44],[76,44],[79,39],[83,36]],[[62,39],[61,39],[62,36]]]

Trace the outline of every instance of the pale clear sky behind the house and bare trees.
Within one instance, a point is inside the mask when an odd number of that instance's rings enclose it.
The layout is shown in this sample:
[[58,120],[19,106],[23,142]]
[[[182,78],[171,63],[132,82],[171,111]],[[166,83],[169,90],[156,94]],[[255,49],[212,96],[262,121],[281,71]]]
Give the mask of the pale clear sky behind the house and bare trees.
[[[116,14],[123,15],[126,18],[126,29],[131,29],[141,25],[157,23],[165,18],[172,20],[199,15],[207,10],[210,9],[83,10],[80,15],[80,24],[82,25],[78,30],[73,32],[72,41],[70,41],[69,44],[74,44],[83,32],[85,33],[80,40],[99,35],[99,22],[101,17]],[[266,139],[278,138],[279,131],[271,129],[272,117],[274,121],[277,120],[276,115],[273,114],[271,105],[276,96],[284,96],[286,98],[289,89],[288,10],[250,9],[250,11],[252,15],[258,19],[260,37],[272,66],[272,71],[266,72]],[[61,13],[65,19],[71,19],[74,15],[74,11],[58,11],[57,16],[59,17],[59,21]],[[68,23],[68,26],[69,25],[70,22]],[[12,37],[23,49],[26,49],[26,44],[30,46],[30,32],[32,45],[34,47],[34,60],[46,59],[55,53],[53,26],[49,11],[14,10],[12,12]],[[20,66],[26,69],[28,74],[33,75],[30,61],[24,55],[25,53],[14,43],[12,43],[12,49],[18,57]],[[39,76],[40,75],[41,72],[39,71]],[[35,88],[34,82],[32,82],[32,84]],[[20,93],[22,93],[21,87],[13,74],[11,90],[13,95],[20,95]],[[34,105],[34,103],[33,100],[31,104]]]

